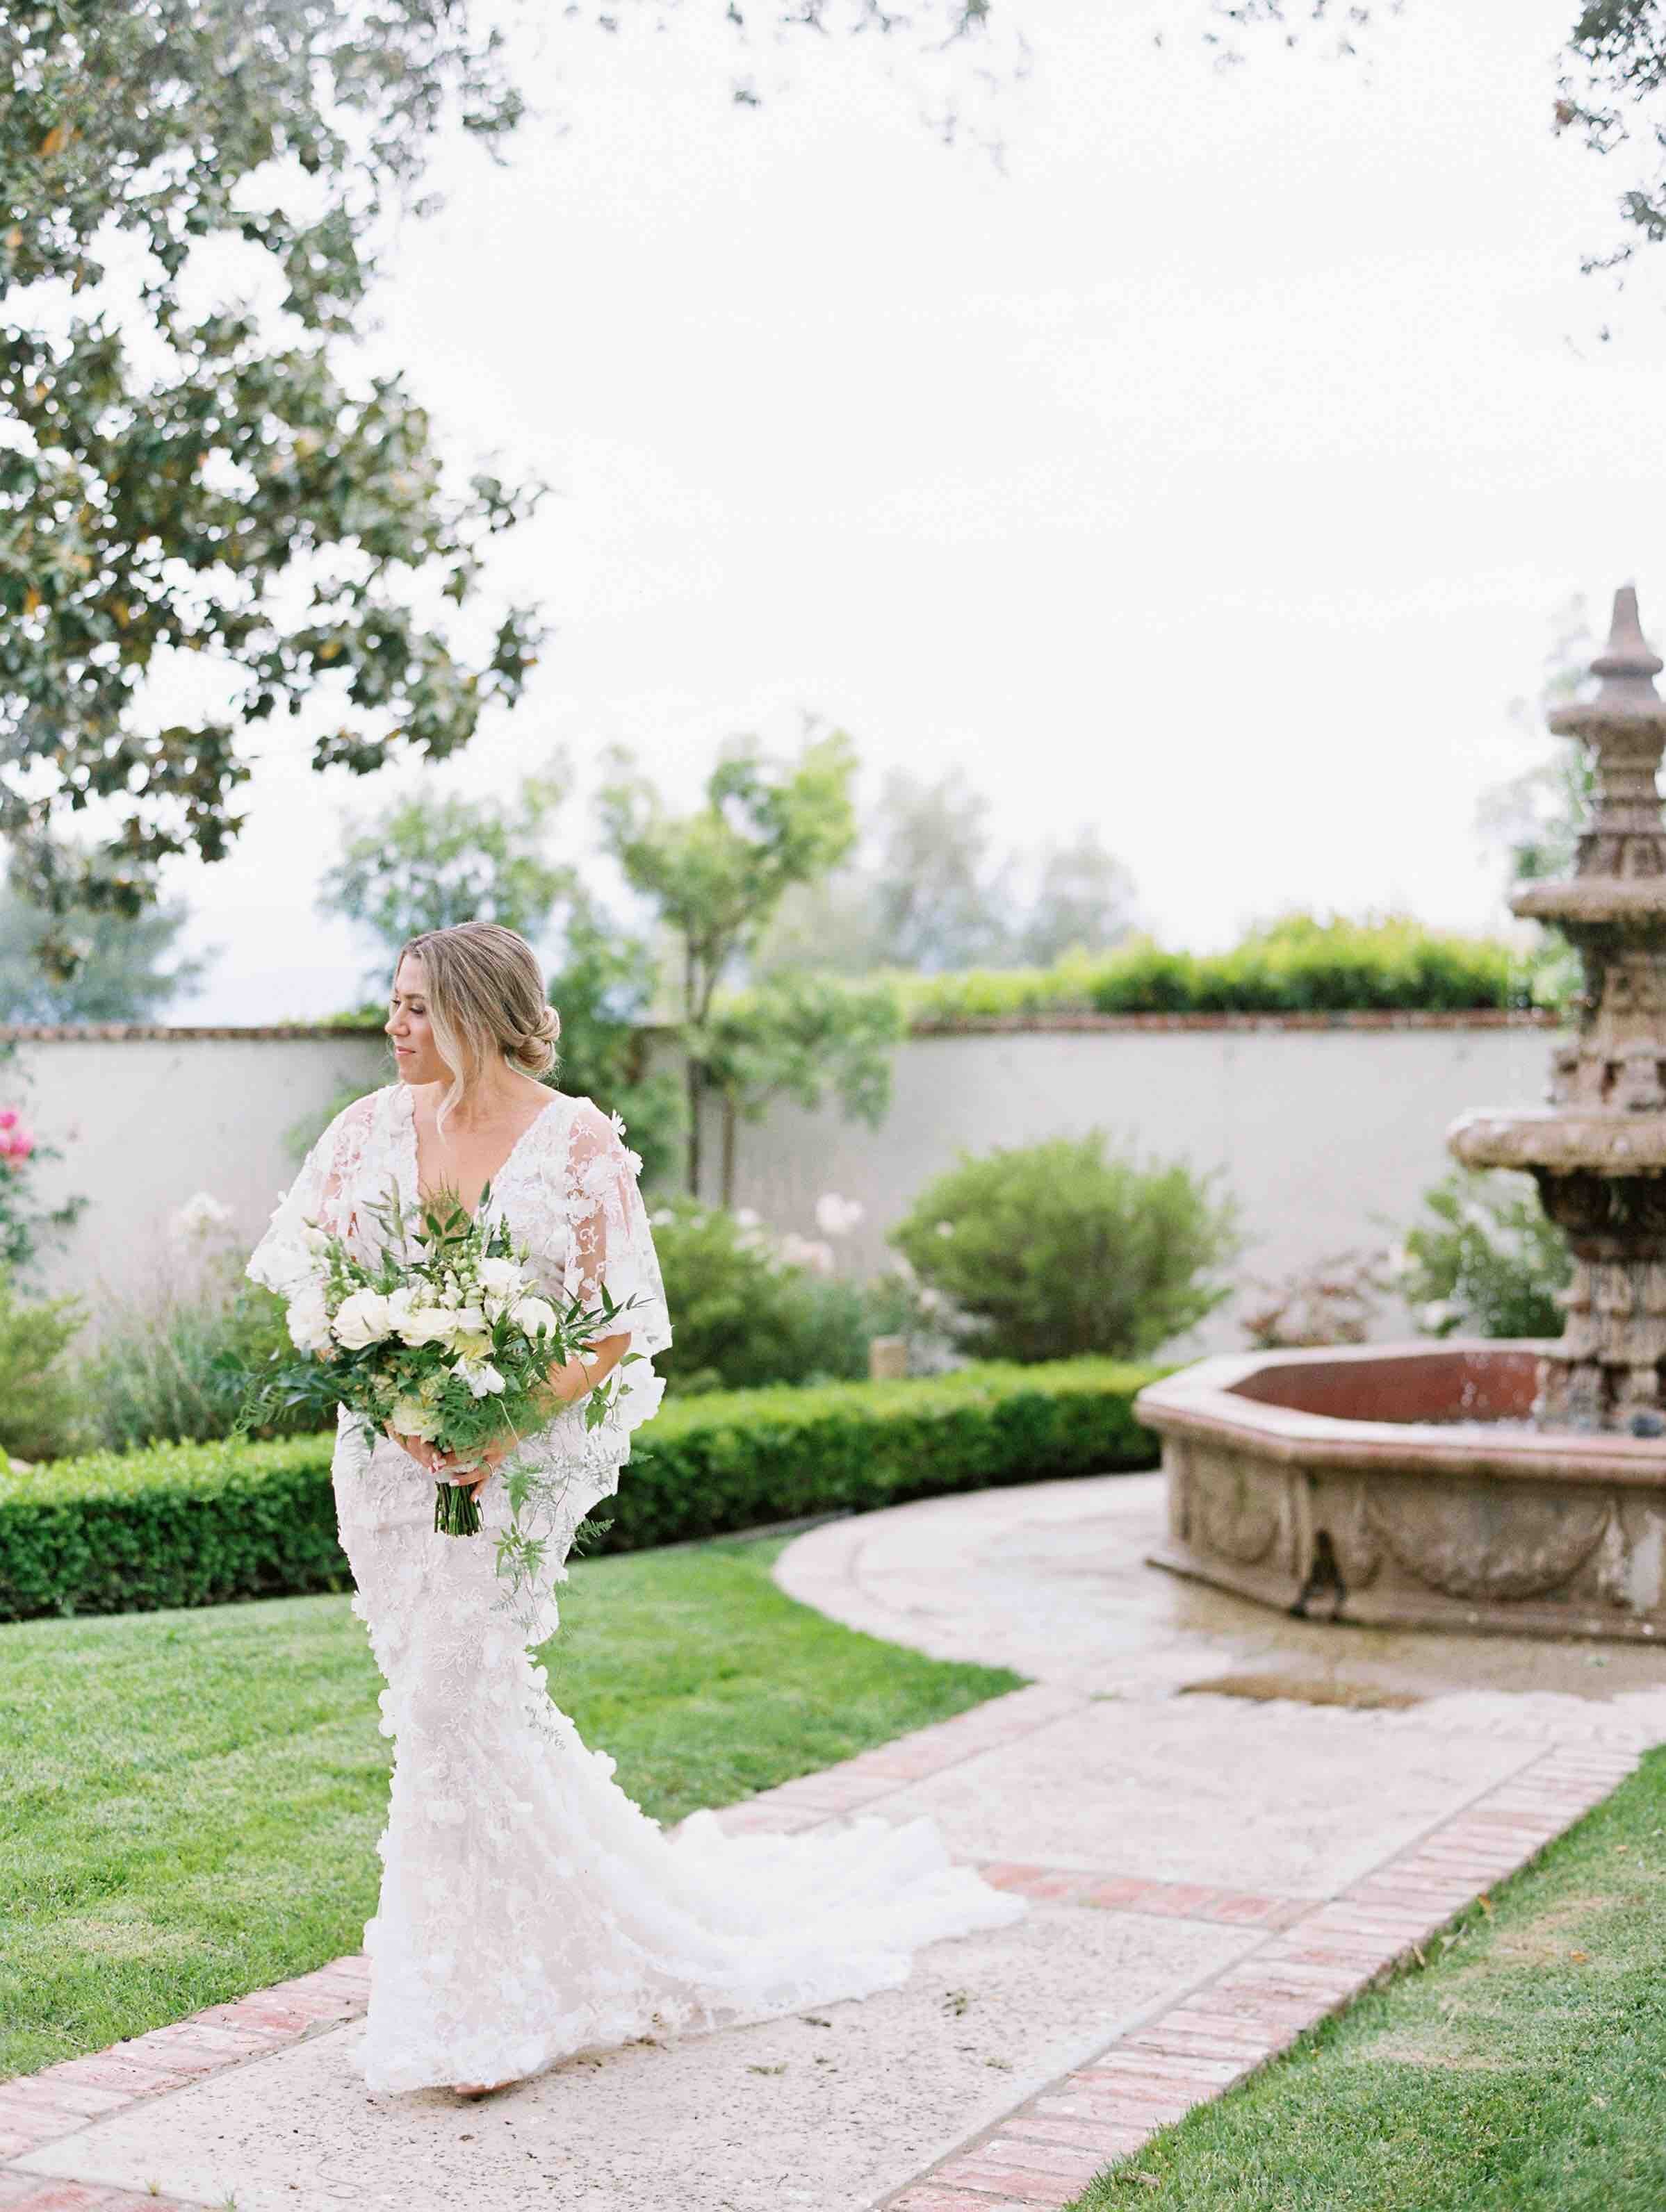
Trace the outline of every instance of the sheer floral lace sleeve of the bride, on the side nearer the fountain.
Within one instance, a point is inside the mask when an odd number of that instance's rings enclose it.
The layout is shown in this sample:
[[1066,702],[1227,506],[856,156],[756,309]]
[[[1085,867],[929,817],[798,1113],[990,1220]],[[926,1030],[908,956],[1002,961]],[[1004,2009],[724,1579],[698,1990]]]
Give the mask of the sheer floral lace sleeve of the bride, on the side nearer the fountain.
[[624,1144],[624,1121],[608,1119],[591,1099],[577,1099],[566,1130],[569,1239],[562,1290],[586,1305],[606,1287],[622,1305],[635,1298],[619,1327],[639,1354],[619,1369],[617,1425],[639,1427],[659,1405],[666,1385],[653,1371],[655,1352],[670,1345],[670,1314],[648,1210],[637,1190],[642,1159]]

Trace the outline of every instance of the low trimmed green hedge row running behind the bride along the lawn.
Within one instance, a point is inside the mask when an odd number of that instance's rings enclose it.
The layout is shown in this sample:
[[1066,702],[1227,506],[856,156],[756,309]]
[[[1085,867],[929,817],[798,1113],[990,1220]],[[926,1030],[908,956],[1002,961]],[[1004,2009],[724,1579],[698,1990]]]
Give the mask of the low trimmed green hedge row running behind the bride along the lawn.
[[[639,1551],[1044,1475],[1153,1467],[1155,1367],[1058,1360],[914,1383],[712,1391],[635,1440],[595,1551]],[[0,1473],[0,1619],[339,1590],[334,1436],[157,1444]]]

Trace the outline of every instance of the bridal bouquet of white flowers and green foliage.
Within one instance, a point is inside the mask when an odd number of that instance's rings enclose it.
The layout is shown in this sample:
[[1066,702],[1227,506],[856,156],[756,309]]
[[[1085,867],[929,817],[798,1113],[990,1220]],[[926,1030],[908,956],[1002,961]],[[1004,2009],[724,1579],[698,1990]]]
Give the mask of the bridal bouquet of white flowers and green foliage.
[[[485,1212],[487,1192],[480,1194]],[[308,1407],[332,1413],[345,1405],[367,1442],[392,1425],[420,1436],[458,1462],[482,1464],[493,1444],[516,1444],[542,1427],[560,1400],[549,1369],[595,1360],[589,1343],[617,1334],[635,1305],[546,1296],[529,1252],[502,1221],[482,1225],[454,1199],[403,1208],[398,1190],[372,1210],[383,1228],[383,1254],[365,1263],[341,1237],[312,1228],[283,1285],[290,1340],[303,1354],[257,1385],[246,1418],[263,1407]],[[626,1354],[619,1367],[635,1360]],[[582,1400],[584,1427],[613,1409],[617,1369]],[[509,1480],[516,1509],[513,1475]],[[436,1482],[434,1526],[476,1535],[480,1509],[467,1484]]]

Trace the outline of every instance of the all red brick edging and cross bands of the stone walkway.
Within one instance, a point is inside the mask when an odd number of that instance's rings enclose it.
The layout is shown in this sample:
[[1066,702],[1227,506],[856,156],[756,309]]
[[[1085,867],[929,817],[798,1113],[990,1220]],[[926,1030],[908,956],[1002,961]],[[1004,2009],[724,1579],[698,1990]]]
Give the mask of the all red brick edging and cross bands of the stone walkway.
[[[723,1812],[735,1832],[783,1834],[847,1818],[889,1792],[1047,1728],[1082,1697],[1031,1683],[951,1721],[898,1736],[836,1767],[781,1783]],[[1347,2006],[1496,1882],[1529,1865],[1637,1765],[1635,1750],[1551,1743],[1467,1805],[1330,1898],[1279,1898],[1148,1882],[1062,1867],[985,1865],[1027,1898],[1117,1913],[1204,1920],[1261,1940],[1179,2002],[1164,2002],[1073,2068],[980,2128],[883,2201],[889,2212],[1062,2212],[1113,2159],[1221,2097],[1308,2028]],[[179,2199],[9,2161],[139,2099],[246,2066],[365,2013],[369,1966],[339,1958],[108,2051],[0,2081],[4,2212],[199,2212]]]

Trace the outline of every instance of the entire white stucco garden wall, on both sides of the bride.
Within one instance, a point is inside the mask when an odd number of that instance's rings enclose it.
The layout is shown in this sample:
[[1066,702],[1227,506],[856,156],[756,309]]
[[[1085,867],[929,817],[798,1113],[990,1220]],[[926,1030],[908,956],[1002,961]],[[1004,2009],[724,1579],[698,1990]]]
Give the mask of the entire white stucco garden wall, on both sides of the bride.
[[[867,1270],[960,1150],[1104,1128],[1142,1155],[1219,1170],[1241,1203],[1243,1272],[1277,1279],[1385,1243],[1447,1170],[1454,1115],[1542,1097],[1549,1051],[1538,1026],[916,1035],[881,1130],[794,1106],[743,1126],[737,1199],[803,1232],[821,1192],[861,1199],[843,1265]],[[383,1040],[347,1031],[24,1037],[20,1064],[29,1119],[64,1155],[40,1170],[40,1194],[91,1201],[44,1279],[95,1298],[166,1267],[166,1221],[197,1190],[223,1199],[252,1243],[294,1172],[290,1130],[316,1124],[343,1084],[389,1079]],[[0,1062],[0,1104],[15,1091]],[[706,1159],[715,1183],[715,1126]],[[1239,1340],[1226,1307],[1184,1349]]]

